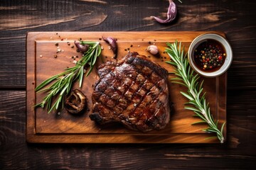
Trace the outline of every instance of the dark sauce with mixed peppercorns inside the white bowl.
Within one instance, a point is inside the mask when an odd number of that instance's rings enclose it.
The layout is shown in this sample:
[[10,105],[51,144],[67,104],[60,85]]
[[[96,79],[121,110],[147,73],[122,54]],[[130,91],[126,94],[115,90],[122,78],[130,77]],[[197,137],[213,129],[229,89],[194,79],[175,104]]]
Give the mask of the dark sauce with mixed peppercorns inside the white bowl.
[[226,52],[223,45],[216,40],[201,42],[193,53],[193,60],[198,69],[214,72],[225,62]]

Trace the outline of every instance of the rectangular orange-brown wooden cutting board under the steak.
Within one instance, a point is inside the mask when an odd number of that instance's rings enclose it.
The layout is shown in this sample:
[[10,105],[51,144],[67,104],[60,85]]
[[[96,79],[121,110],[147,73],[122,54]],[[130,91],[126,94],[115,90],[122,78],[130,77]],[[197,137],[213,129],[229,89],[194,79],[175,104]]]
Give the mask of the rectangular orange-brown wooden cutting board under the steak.
[[[207,125],[191,125],[198,121],[198,118],[193,117],[192,111],[183,108],[183,104],[187,100],[181,96],[180,91],[186,91],[186,89],[178,84],[172,84],[170,80],[169,89],[174,107],[169,125],[164,130],[159,131],[134,132],[119,124],[99,126],[90,120],[92,86],[97,80],[96,69],[83,80],[81,89],[88,98],[90,111],[78,116],[71,115],[65,109],[60,113],[47,113],[46,109],[33,107],[36,103],[40,103],[43,96],[46,95],[45,93],[36,94],[34,91],[36,86],[41,84],[43,80],[63,72],[63,69],[73,67],[75,65],[73,62],[82,57],[73,47],[74,40],[80,40],[81,38],[82,40],[100,41],[103,47],[102,58],[107,61],[113,60],[112,51],[101,38],[102,36],[117,38],[118,59],[127,55],[128,51],[136,51],[171,72],[174,68],[165,62],[170,60],[164,52],[166,42],[181,41],[187,51],[191,41],[203,33],[209,32],[28,33],[26,43],[27,141],[39,143],[218,143],[219,141],[216,138],[206,140],[206,137],[215,135],[202,131],[203,128],[207,128]],[[219,33],[225,36],[220,32],[210,33]],[[159,47],[159,57],[150,55],[149,52],[145,51],[150,44]],[[73,56],[75,56],[75,60]],[[97,61],[97,65],[101,63],[101,60]],[[170,74],[169,78],[171,79],[171,77],[174,77],[174,75]],[[217,78],[202,79],[205,81],[204,89],[207,91],[206,99],[210,102],[210,111],[213,117],[222,124],[226,121],[226,74]],[[78,84],[75,84],[73,89],[79,89]],[[224,128],[225,134],[226,126]]]

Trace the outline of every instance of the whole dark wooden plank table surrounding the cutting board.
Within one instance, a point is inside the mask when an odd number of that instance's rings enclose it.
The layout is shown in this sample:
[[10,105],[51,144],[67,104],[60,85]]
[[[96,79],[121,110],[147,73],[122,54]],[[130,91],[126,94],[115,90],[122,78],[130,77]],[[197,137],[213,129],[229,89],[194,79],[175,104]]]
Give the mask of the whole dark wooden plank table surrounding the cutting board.
[[[256,162],[256,1],[0,1],[0,169],[253,169]],[[26,142],[29,31],[220,30],[233,47],[224,145],[32,145]]]

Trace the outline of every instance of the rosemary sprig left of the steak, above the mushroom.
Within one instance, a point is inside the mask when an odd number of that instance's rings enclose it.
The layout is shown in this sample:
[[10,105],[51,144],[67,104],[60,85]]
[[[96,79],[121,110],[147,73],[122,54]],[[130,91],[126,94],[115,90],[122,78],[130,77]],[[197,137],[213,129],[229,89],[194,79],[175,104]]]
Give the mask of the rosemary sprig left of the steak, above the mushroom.
[[[82,79],[85,73],[85,64],[90,65],[90,69],[89,71],[87,71],[85,76],[87,77],[92,72],[97,57],[99,57],[101,53],[100,42],[81,41],[80,43],[82,45],[89,45],[89,49],[87,50],[87,52],[82,55],[82,58],[77,62],[74,67],[67,68],[64,72],[56,74],[49,79],[46,79],[36,87],[35,91],[37,93],[42,91],[47,91],[48,93],[43,98],[43,101],[36,104],[35,107],[41,106],[42,108],[44,108],[46,106],[48,113],[50,113],[51,111],[57,111],[60,107],[63,108],[64,96],[66,94],[69,94],[73,83],[78,80],[79,86],[82,86]],[[46,87],[51,82],[53,82],[53,84]],[[56,100],[52,106],[52,101],[54,100],[54,98],[56,98]]]

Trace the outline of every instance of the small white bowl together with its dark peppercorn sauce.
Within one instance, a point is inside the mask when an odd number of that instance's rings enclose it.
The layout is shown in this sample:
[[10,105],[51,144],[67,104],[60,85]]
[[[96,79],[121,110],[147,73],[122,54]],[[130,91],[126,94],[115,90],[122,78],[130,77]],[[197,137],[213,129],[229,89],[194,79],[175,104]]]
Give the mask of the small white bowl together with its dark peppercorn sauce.
[[203,77],[218,77],[225,73],[233,60],[228,40],[217,33],[198,35],[188,48],[188,62]]

